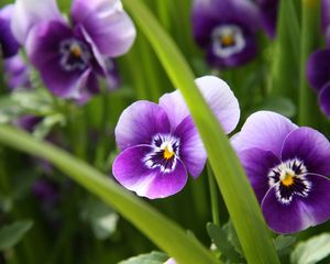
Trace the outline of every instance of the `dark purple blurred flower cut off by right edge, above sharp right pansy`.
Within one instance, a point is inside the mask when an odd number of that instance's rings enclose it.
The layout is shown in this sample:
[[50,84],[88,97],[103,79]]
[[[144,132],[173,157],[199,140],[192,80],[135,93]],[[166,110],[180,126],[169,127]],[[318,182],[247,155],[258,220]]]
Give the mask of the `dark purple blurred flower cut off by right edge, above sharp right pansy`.
[[330,118],[330,50],[318,50],[307,62],[307,79],[319,95],[321,110]]

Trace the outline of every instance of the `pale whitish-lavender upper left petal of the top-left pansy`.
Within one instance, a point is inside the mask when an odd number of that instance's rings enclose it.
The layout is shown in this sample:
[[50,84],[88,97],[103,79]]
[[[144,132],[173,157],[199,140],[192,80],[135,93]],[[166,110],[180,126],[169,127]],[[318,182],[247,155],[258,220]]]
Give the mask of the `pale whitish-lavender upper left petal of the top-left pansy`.
[[56,0],[16,0],[11,21],[11,29],[15,38],[24,44],[33,25],[50,21],[64,21],[57,8]]

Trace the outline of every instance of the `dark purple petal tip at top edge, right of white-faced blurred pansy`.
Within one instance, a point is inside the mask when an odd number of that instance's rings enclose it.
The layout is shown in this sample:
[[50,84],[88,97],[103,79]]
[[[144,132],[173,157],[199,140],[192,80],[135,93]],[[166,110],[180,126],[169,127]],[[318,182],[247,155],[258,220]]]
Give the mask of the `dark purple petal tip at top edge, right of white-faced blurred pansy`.
[[270,37],[276,36],[276,24],[279,1],[278,0],[258,0],[262,25]]

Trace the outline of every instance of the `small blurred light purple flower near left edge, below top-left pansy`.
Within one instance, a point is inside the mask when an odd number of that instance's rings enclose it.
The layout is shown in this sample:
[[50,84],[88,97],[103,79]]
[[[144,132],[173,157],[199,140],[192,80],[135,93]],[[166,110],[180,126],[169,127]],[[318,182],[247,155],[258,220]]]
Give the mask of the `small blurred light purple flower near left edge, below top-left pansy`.
[[16,54],[3,62],[3,70],[9,88],[30,88],[30,69],[21,56]]

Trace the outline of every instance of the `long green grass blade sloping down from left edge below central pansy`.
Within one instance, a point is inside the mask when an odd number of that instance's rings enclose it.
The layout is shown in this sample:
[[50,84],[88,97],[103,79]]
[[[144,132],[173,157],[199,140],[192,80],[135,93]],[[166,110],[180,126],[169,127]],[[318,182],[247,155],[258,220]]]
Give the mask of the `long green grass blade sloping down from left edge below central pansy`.
[[178,263],[219,263],[197,240],[97,169],[28,133],[0,125],[0,143],[52,162],[78,184],[113,207]]

